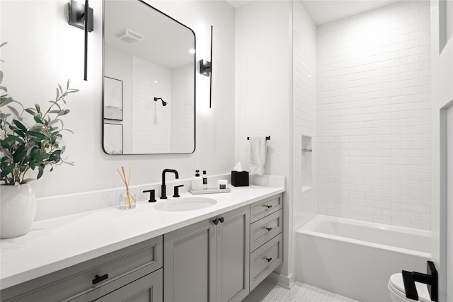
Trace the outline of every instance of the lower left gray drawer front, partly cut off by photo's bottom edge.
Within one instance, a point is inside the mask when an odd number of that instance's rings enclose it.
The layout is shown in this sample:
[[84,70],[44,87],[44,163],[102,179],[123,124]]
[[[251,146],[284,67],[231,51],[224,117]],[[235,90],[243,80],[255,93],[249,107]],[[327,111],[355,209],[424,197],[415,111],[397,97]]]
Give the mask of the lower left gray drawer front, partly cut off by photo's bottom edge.
[[122,286],[110,294],[96,299],[97,302],[161,302],[162,269]]

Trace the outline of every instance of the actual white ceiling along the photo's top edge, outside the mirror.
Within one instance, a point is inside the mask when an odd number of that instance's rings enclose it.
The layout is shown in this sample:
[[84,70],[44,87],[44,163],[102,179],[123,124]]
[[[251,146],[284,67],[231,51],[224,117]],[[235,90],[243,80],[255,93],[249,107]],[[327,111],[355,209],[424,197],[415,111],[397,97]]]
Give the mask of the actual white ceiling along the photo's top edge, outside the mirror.
[[[234,8],[239,8],[250,2],[245,0],[227,0]],[[278,0],[275,0],[278,1]],[[311,19],[316,25],[330,23],[357,13],[398,2],[397,0],[301,0]]]

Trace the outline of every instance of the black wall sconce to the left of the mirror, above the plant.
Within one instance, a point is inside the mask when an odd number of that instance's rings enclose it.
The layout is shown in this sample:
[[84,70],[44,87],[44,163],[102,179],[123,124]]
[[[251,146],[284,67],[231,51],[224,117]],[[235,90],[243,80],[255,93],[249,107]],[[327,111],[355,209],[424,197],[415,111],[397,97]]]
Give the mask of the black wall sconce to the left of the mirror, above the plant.
[[69,1],[69,25],[85,30],[84,80],[86,81],[88,66],[88,31],[93,31],[93,8],[90,8],[88,5],[88,0],[85,0],[85,5],[74,0]]

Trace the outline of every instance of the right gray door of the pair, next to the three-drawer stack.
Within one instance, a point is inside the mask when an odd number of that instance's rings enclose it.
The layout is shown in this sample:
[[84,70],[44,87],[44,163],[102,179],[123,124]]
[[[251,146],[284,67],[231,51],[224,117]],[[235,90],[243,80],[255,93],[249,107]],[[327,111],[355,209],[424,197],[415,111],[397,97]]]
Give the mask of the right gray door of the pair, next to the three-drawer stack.
[[217,225],[217,299],[241,301],[249,292],[250,207],[219,215]]

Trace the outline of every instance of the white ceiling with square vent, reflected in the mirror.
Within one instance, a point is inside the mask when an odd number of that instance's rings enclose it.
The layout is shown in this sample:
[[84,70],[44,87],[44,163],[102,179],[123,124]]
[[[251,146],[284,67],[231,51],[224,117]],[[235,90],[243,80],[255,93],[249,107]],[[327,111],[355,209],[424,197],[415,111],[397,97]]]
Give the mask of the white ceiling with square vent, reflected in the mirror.
[[[189,50],[195,49],[195,35],[184,25],[140,1],[105,1],[104,11],[106,46],[169,69],[193,64]],[[118,39],[116,33],[125,28],[143,40],[129,44]]]

